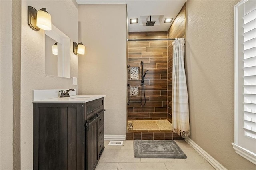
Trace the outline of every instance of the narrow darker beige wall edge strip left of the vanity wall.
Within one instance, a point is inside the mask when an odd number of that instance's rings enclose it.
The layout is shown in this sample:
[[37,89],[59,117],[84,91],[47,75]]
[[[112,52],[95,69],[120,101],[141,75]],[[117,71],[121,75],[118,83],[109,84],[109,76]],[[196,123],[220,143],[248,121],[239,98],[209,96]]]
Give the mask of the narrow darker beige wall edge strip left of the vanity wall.
[[20,169],[21,0],[12,0],[13,168]]

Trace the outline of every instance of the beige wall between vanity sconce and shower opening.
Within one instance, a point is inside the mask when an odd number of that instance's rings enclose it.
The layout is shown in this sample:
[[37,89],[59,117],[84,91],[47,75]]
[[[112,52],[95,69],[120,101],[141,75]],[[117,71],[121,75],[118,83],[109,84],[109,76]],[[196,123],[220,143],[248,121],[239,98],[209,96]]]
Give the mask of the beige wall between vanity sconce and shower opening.
[[79,5],[78,21],[79,95],[106,95],[105,134],[125,135],[126,5]]

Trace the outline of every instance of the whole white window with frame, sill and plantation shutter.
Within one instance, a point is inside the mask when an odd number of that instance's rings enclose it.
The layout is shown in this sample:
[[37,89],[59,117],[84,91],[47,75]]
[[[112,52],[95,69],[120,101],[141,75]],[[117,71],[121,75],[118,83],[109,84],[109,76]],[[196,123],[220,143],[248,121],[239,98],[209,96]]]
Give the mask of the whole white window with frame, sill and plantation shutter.
[[234,6],[234,150],[256,164],[256,0]]

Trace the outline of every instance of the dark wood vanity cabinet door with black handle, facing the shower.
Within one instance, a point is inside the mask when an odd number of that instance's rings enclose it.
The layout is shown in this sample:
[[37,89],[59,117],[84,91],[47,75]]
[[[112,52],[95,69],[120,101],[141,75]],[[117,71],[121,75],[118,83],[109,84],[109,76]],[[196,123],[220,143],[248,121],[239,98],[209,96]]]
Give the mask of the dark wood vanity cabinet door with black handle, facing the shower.
[[86,122],[86,170],[95,169],[98,162],[97,122],[98,117]]

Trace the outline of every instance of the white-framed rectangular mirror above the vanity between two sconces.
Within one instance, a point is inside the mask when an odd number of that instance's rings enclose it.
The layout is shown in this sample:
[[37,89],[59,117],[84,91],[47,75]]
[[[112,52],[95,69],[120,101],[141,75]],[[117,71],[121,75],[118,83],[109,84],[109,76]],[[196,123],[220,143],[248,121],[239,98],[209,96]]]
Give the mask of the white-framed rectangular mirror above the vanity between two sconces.
[[[44,74],[70,78],[70,38],[52,25],[45,31]],[[52,45],[57,42],[58,54],[54,55]]]

